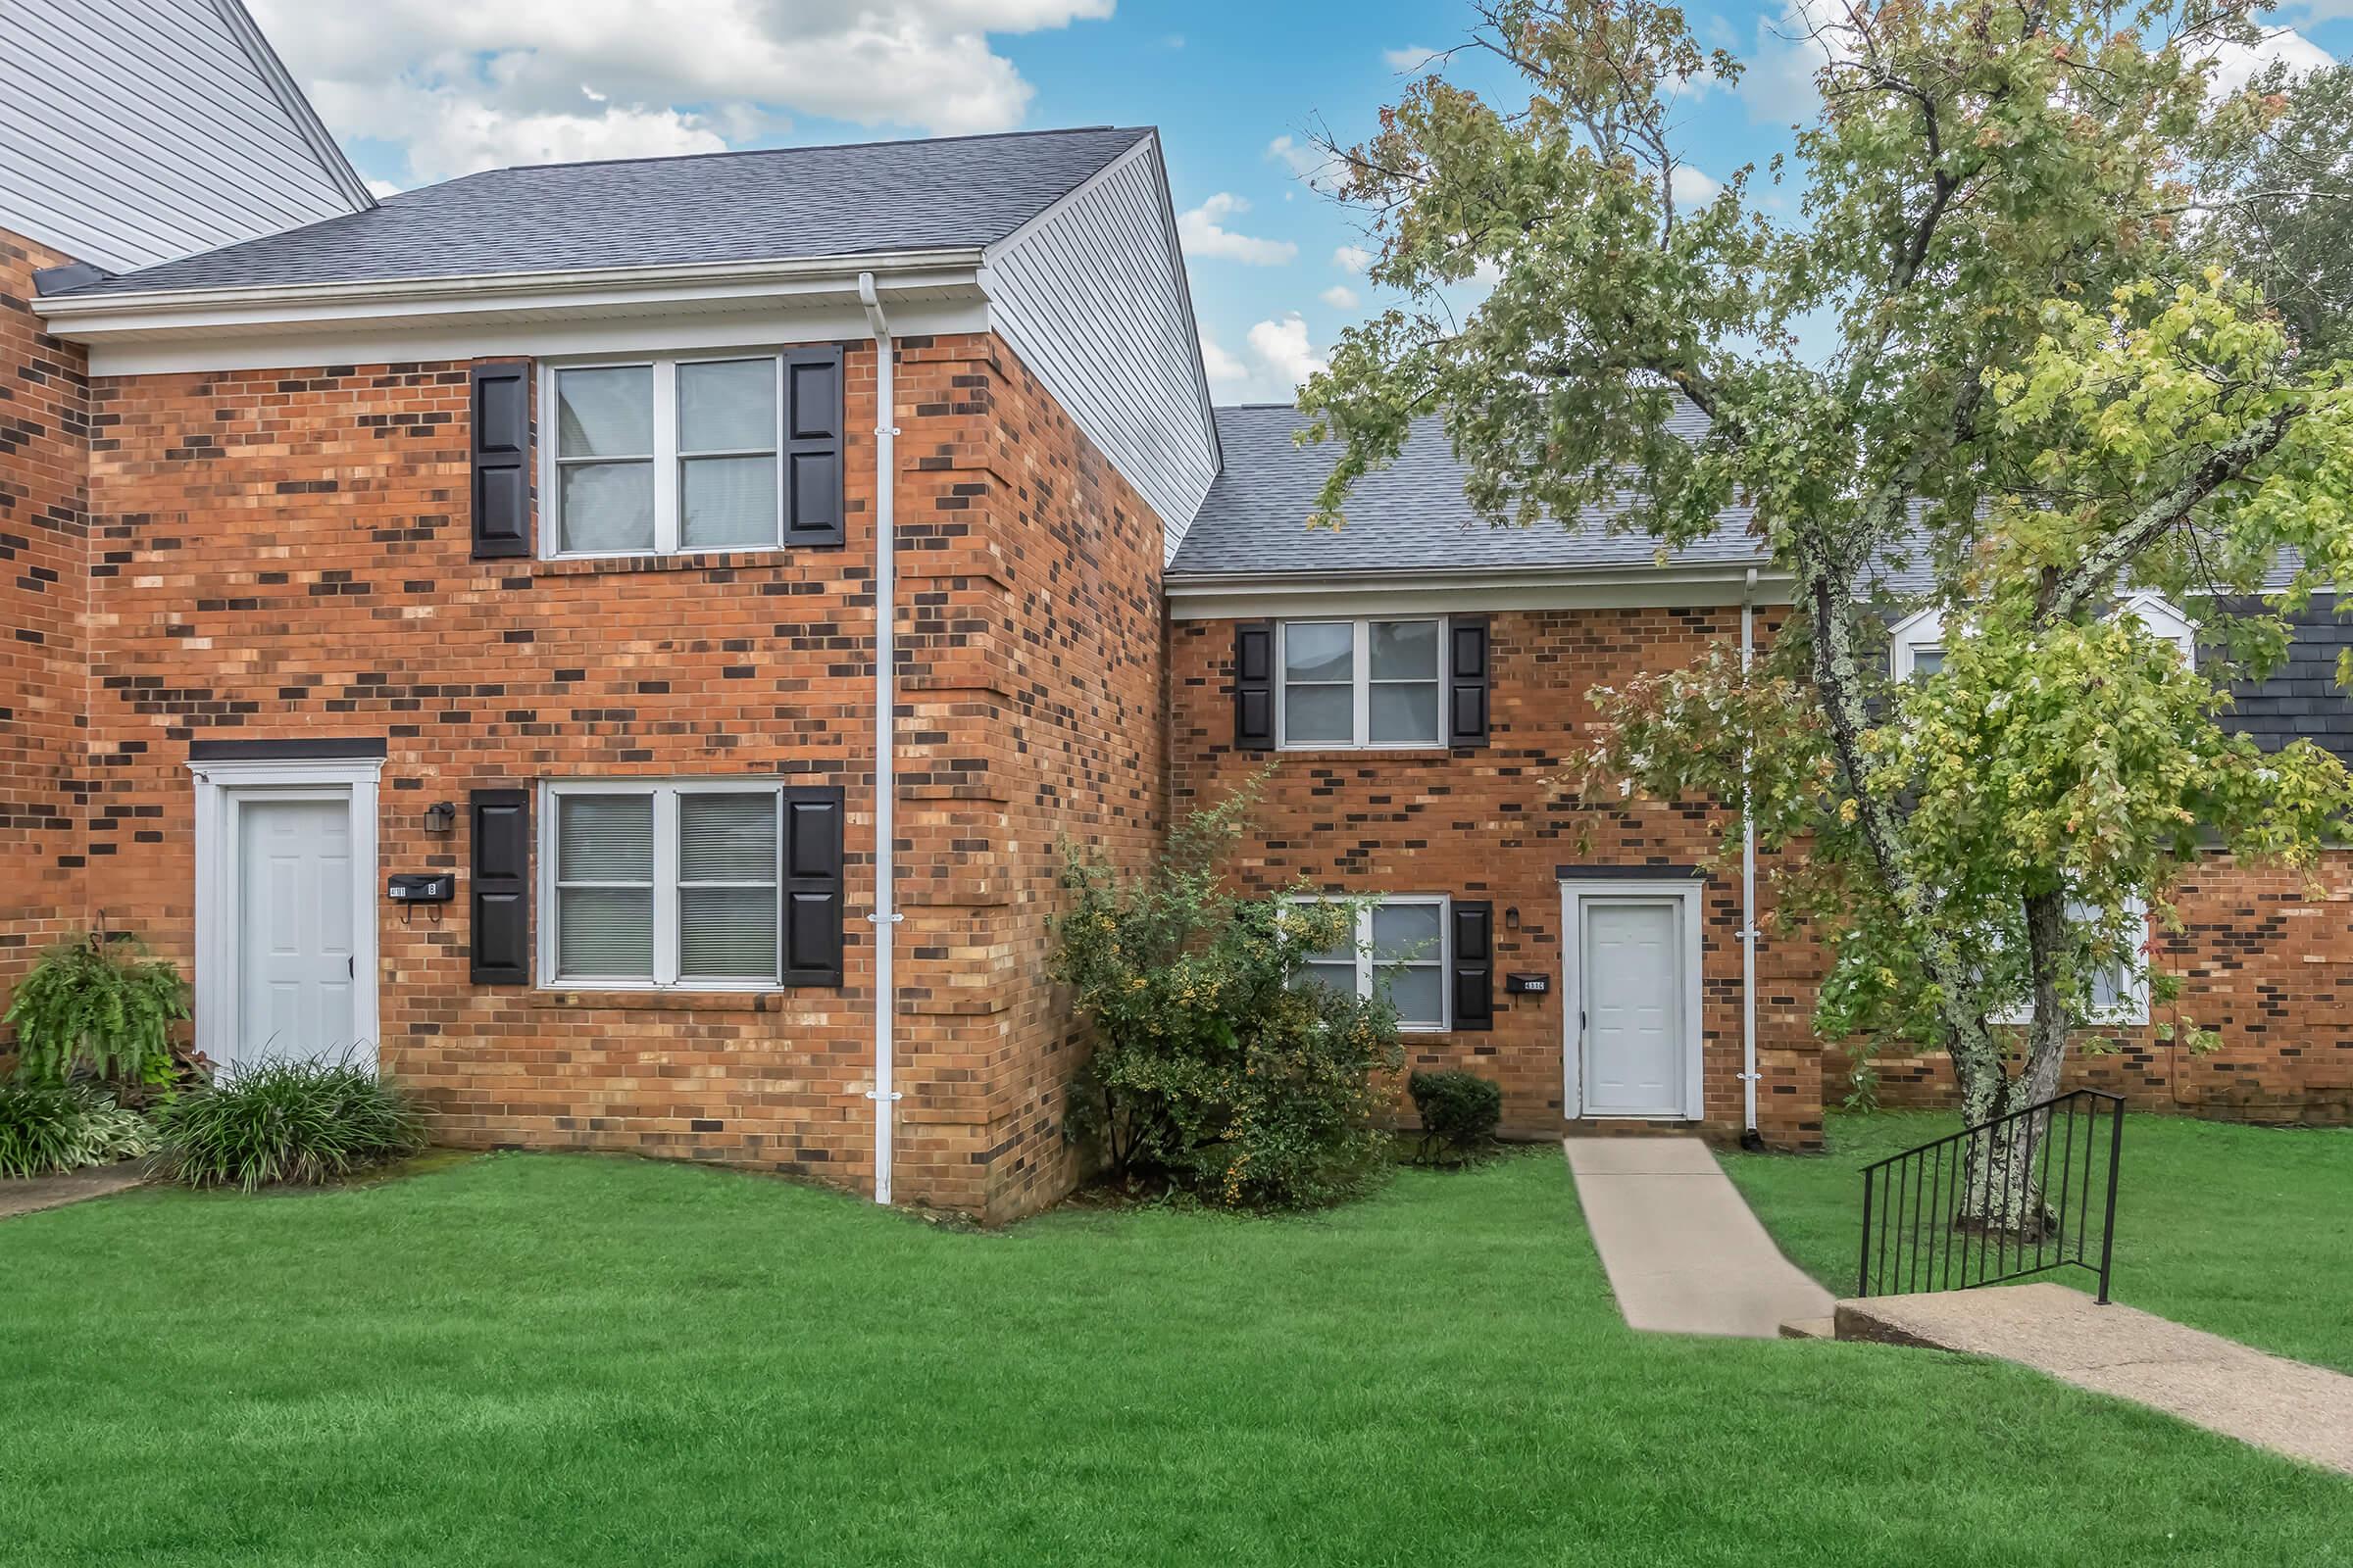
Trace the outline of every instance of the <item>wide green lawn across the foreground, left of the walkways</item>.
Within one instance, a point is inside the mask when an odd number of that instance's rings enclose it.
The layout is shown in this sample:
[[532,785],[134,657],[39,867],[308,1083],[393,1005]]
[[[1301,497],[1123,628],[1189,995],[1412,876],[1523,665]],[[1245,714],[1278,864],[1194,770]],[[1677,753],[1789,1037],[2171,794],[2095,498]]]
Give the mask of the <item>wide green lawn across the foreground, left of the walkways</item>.
[[[2341,1300],[2341,1298],[2339,1298]],[[624,1159],[0,1222],[9,1563],[2341,1563],[2000,1363],[1624,1328],[1558,1152],[1005,1234]]]

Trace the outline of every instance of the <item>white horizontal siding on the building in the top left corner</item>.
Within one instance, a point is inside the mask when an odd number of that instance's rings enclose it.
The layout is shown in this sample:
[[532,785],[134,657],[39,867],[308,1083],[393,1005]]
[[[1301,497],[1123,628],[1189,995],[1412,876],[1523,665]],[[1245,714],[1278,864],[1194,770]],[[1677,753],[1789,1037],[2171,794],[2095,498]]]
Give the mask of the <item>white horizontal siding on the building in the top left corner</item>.
[[212,0],[0,2],[0,228],[129,270],[351,209]]

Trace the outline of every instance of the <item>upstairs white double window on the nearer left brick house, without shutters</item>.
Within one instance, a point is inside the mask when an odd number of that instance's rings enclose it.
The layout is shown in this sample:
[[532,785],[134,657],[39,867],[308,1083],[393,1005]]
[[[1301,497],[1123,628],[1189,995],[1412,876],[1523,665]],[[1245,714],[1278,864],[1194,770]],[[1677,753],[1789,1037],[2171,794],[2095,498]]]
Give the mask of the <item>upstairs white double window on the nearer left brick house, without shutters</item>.
[[784,357],[560,364],[551,555],[767,550],[784,543]]

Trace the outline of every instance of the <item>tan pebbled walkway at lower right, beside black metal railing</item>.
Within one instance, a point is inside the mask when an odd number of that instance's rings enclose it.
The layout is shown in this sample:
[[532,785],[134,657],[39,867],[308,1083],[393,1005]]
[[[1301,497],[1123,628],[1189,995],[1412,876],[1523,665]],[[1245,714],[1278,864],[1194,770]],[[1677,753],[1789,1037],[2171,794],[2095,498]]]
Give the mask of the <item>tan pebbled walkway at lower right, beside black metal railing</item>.
[[2353,1474],[2353,1378],[2054,1284],[1838,1302],[1840,1340],[2002,1356]]

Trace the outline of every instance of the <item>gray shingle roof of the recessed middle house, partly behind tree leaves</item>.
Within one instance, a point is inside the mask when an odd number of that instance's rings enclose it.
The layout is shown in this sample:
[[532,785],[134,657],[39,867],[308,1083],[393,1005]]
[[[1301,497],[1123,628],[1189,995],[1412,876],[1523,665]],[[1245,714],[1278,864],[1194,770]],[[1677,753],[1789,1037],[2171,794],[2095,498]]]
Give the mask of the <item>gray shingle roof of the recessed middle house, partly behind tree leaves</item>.
[[[1699,435],[1699,411],[1678,416]],[[1209,484],[1193,527],[1176,548],[1172,574],[1278,576],[1294,571],[1431,571],[1475,567],[1647,567],[1657,543],[1647,534],[1609,534],[1602,512],[1574,529],[1492,527],[1464,501],[1464,468],[1435,418],[1414,421],[1395,463],[1365,475],[1348,496],[1348,527],[1308,529],[1315,489],[1332,473],[1339,449],[1294,447],[1306,418],[1287,404],[1247,404],[1217,411],[1226,465]],[[1746,508],[1671,557],[1675,564],[1755,562]]]

